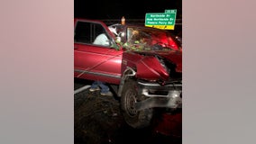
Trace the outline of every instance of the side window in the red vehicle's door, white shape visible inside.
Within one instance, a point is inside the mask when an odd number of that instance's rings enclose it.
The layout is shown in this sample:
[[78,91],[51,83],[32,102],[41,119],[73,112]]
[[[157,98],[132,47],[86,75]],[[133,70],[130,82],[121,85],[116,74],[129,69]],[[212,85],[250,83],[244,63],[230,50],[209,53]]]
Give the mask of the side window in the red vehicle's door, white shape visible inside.
[[99,23],[78,21],[75,26],[74,34],[75,42],[109,46],[109,40],[105,29]]

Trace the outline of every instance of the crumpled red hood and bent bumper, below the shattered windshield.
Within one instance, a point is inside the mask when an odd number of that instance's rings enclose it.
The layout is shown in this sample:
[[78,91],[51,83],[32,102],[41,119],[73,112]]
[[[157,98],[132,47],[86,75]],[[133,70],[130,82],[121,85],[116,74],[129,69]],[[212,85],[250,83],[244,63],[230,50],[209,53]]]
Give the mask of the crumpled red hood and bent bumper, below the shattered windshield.
[[[138,77],[138,93],[148,98],[145,101],[135,103],[136,109],[142,110],[151,107],[181,108],[181,71],[177,72],[176,65],[167,61],[166,58],[159,56],[147,57],[149,59],[146,61],[144,61],[146,58],[143,58],[142,61],[138,62],[136,77]],[[159,61],[159,63],[152,61]]]

